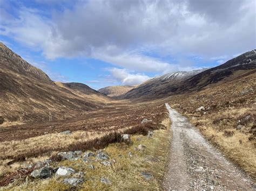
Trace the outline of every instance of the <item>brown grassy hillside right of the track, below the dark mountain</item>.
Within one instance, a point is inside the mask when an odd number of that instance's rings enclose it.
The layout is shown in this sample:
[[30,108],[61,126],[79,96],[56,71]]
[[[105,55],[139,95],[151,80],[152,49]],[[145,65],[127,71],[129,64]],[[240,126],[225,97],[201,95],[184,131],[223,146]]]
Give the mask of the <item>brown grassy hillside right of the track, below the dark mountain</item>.
[[[171,107],[191,119],[210,142],[256,180],[256,73],[228,77],[190,94],[166,98]],[[246,92],[247,93],[243,93]],[[203,106],[204,111],[196,109]],[[251,115],[248,122],[242,121]],[[237,129],[238,121],[243,125]]]

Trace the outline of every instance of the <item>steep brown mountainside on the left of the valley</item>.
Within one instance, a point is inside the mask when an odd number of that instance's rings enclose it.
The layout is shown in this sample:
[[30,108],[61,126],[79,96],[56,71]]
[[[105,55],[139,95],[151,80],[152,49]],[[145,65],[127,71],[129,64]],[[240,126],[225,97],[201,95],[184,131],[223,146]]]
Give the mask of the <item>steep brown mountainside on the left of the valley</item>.
[[5,125],[75,117],[103,108],[109,97],[81,83],[55,83],[0,44],[0,118]]

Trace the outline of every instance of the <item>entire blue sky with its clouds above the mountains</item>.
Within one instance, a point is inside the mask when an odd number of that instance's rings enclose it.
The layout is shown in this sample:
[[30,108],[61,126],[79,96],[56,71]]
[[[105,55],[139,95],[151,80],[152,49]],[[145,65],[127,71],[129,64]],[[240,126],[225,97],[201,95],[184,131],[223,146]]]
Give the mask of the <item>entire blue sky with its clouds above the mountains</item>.
[[254,0],[0,0],[0,41],[94,89],[218,66],[256,48]]

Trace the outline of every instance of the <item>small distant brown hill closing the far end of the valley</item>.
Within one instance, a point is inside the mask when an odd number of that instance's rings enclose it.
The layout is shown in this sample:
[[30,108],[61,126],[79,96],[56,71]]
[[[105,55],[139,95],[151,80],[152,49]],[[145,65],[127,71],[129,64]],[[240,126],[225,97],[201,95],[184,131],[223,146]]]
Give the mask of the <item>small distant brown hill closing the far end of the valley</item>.
[[116,97],[125,94],[127,91],[135,88],[136,86],[107,86],[101,88],[98,91],[109,97]]

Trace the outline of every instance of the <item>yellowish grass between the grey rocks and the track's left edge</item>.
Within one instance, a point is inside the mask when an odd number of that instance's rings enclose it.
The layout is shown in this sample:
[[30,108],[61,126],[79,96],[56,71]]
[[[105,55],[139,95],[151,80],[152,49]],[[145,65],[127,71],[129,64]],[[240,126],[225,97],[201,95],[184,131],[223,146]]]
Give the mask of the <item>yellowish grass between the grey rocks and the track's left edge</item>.
[[[77,171],[85,172],[85,182],[80,185],[79,190],[160,190],[161,180],[163,180],[165,165],[167,164],[171,130],[170,119],[166,118],[163,124],[167,129],[154,131],[153,138],[143,135],[132,136],[132,145],[124,143],[110,144],[105,148],[112,159],[116,162],[112,166],[103,166],[99,162],[93,162],[95,169],[90,169],[90,164],[85,164],[82,160],[61,161],[55,166],[70,166]],[[134,151],[134,147],[139,144],[147,146],[144,152]],[[129,157],[129,152],[133,157]],[[145,180],[141,172],[148,172],[153,175],[151,180]],[[100,178],[105,177],[111,180],[111,185],[100,182]],[[9,185],[6,190],[70,190],[70,186],[63,185],[62,179],[51,178],[49,180],[26,181],[22,185]]]

